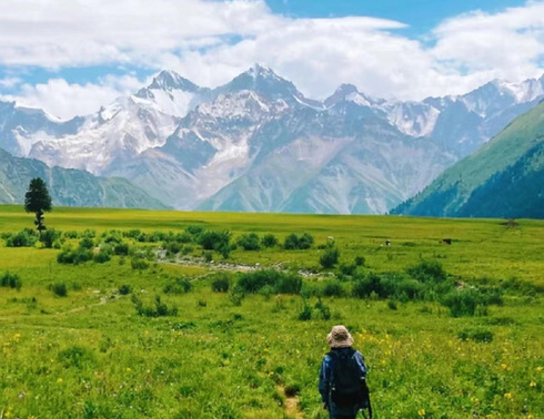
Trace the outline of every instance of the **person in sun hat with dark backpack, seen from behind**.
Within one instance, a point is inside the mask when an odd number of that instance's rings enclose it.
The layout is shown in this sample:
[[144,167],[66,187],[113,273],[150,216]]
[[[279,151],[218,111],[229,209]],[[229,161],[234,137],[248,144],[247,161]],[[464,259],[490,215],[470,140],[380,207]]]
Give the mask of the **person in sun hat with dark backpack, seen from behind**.
[[361,352],[352,348],[350,331],[344,326],[333,326],[326,343],[331,351],[323,358],[319,384],[323,408],[331,419],[354,419],[363,409],[369,409],[372,418],[366,366]]

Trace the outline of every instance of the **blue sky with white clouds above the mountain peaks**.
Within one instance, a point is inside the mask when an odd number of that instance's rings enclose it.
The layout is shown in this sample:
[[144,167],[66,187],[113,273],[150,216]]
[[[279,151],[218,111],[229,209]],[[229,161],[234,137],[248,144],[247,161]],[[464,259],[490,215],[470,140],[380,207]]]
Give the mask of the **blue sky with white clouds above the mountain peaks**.
[[161,69],[216,86],[261,62],[310,98],[403,100],[544,73],[542,0],[18,0],[0,28],[0,99],[62,119]]

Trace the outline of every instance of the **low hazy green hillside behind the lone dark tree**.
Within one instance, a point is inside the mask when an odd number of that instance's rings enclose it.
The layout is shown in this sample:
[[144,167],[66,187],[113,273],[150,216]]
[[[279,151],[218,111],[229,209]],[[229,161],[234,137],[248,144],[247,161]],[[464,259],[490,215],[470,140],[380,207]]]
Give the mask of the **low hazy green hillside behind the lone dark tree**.
[[74,168],[49,167],[0,149],[0,203],[20,204],[32,177],[48,184],[53,205],[154,208],[167,206],[124,178],[97,177]]

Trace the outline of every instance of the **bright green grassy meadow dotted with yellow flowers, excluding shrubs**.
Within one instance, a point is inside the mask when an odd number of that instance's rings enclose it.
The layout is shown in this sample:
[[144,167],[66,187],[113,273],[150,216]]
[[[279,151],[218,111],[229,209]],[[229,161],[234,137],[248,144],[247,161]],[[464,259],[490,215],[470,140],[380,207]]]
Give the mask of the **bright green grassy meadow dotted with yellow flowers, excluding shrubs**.
[[[334,324],[351,329],[366,357],[376,418],[544,417],[544,222],[54,208],[46,225],[77,234],[62,235],[60,248],[7,247],[7,233],[32,227],[32,215],[0,206],[0,278],[9,272],[20,285],[0,286],[0,418],[324,418],[318,369]],[[230,243],[273,234],[279,244],[239,245],[223,259],[194,236],[180,244],[180,262],[157,259],[162,239],[123,236],[189,226],[229,231]],[[97,233],[94,255],[115,236],[130,254],[58,263],[85,229]],[[284,249],[292,233],[311,234],[312,247]],[[343,274],[321,267],[328,243]],[[203,253],[214,263],[201,262]],[[148,267],[133,268],[135,259]],[[424,260],[447,277],[435,284],[406,273]],[[255,264],[302,270],[302,288],[236,292],[244,274],[234,272]],[[218,272],[228,293],[211,289]],[[417,297],[396,288],[357,295],[373,275]],[[453,317],[441,293],[473,287],[495,298]]]

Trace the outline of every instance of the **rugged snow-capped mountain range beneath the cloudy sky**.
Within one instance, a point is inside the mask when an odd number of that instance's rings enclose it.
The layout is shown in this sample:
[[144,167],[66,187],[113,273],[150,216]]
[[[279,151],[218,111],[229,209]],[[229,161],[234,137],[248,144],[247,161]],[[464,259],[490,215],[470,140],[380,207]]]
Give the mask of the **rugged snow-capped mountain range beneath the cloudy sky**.
[[0,103],[0,147],[124,176],[179,208],[383,213],[544,99],[544,76],[461,96],[325,101],[256,64],[216,89],[162,71],[68,122]]

